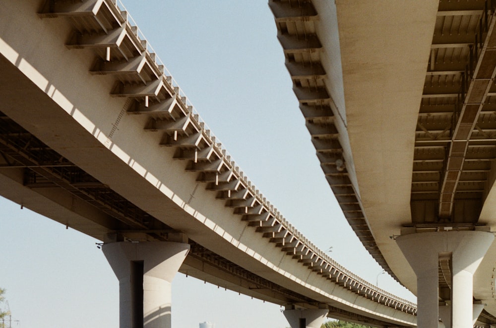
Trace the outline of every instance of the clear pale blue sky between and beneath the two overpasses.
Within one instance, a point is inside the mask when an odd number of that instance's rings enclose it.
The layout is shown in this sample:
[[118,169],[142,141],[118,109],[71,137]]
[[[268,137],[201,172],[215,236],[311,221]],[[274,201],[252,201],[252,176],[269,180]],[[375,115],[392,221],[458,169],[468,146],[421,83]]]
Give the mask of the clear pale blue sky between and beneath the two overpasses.
[[[364,279],[415,301],[372,260],[328,186],[266,0],[124,0],[201,117],[296,228]],[[63,19],[63,18],[61,18]],[[72,50],[77,51],[77,50]],[[86,235],[0,199],[0,287],[12,327],[118,328],[119,285]],[[285,328],[278,305],[178,274],[174,328]]]

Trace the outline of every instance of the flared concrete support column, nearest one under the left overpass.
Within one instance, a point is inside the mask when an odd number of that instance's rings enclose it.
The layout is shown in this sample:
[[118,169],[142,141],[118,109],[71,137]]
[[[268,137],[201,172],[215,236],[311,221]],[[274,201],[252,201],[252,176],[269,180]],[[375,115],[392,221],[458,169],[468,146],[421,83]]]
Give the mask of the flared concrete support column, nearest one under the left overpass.
[[189,244],[122,241],[102,250],[119,280],[119,327],[171,328],[171,282]]

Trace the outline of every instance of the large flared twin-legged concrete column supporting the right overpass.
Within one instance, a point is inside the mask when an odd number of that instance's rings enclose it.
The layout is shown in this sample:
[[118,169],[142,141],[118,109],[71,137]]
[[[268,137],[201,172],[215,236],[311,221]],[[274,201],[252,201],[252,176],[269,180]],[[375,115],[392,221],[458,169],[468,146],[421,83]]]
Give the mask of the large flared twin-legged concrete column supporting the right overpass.
[[417,275],[417,326],[437,328],[438,260],[451,259],[451,327],[473,327],[473,275],[494,240],[482,231],[405,234],[396,242]]

